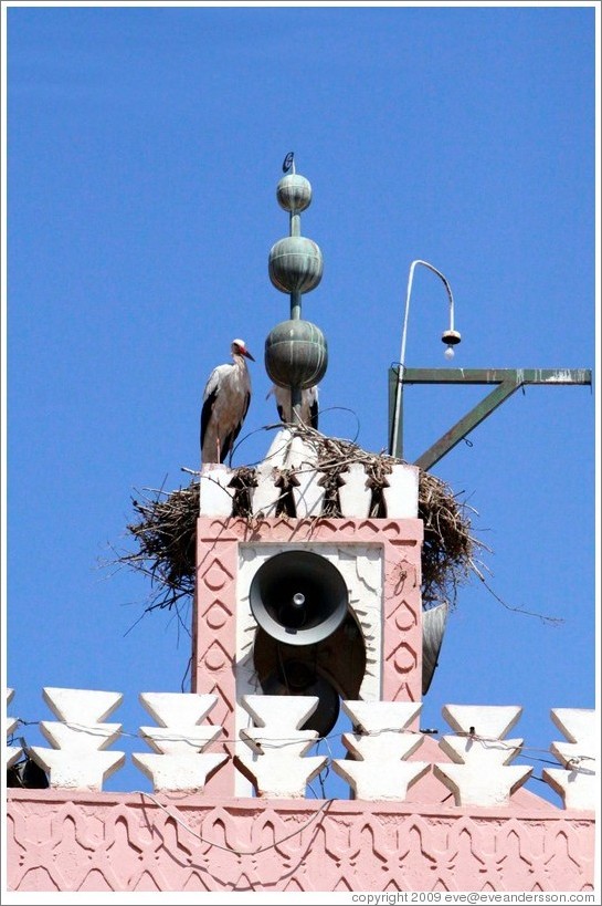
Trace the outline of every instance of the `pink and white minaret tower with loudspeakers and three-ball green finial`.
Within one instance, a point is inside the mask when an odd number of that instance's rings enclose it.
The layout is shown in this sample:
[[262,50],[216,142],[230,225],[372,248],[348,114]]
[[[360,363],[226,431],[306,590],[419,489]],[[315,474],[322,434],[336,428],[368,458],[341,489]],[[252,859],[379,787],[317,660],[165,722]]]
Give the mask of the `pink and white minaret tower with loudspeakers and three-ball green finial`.
[[[302,317],[303,294],[320,282],[323,257],[300,235],[311,187],[294,171],[292,156],[287,162],[293,171],[276,195],[291,230],[272,247],[268,273],[289,294],[291,317],[268,334],[265,365],[274,383],[291,387],[297,418],[277,434],[256,469],[249,517],[232,516],[231,470],[207,468],[197,527],[192,689],[218,697],[209,719],[225,738],[243,738],[232,743],[239,768],[244,737],[256,729],[257,708],[268,700],[276,708],[288,699],[284,707],[297,708],[299,717],[298,726],[271,725],[271,733],[300,731],[314,739],[331,731],[341,702],[410,702],[416,712],[422,694],[419,470],[391,467],[384,516],[373,518],[366,467],[349,464],[335,489],[340,517],[327,518],[327,476],[298,418],[302,390],[326,372],[327,345],[319,327]],[[294,501],[286,510],[284,476]],[[209,790],[249,794],[235,767],[230,761],[220,768]]]

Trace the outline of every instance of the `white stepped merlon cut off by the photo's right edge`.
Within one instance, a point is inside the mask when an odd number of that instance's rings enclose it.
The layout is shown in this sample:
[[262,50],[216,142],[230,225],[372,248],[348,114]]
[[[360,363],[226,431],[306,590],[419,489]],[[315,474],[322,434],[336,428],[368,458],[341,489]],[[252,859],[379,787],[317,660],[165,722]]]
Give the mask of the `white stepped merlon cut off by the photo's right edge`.
[[564,768],[546,769],[543,780],[561,796],[566,809],[593,810],[599,801],[600,719],[589,708],[553,708],[551,718],[569,742],[552,742],[550,751]]

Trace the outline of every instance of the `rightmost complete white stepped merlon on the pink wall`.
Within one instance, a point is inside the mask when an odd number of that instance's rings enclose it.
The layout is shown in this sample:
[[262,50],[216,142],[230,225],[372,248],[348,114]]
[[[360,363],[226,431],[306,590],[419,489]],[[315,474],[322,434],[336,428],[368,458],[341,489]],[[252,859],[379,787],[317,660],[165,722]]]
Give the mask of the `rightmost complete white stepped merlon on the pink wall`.
[[520,752],[521,739],[503,739],[522,709],[447,705],[442,709],[458,736],[445,736],[440,748],[453,764],[434,764],[435,775],[454,794],[456,805],[507,805],[530,777],[530,767],[507,767]]

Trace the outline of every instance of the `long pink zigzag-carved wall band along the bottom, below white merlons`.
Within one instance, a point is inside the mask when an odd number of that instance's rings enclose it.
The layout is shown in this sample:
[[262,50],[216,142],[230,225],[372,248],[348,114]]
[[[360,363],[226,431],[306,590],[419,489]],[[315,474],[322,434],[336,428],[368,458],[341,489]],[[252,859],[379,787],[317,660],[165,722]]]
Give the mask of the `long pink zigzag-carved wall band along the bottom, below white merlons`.
[[[593,820],[11,791],[12,891],[591,891]],[[561,815],[561,813],[560,813]],[[458,878],[462,884],[458,886]],[[511,881],[510,881],[511,879]]]

